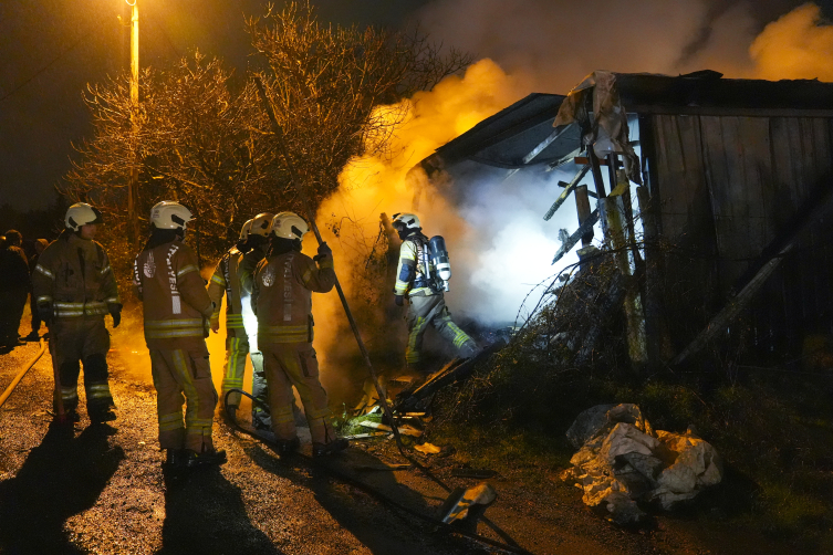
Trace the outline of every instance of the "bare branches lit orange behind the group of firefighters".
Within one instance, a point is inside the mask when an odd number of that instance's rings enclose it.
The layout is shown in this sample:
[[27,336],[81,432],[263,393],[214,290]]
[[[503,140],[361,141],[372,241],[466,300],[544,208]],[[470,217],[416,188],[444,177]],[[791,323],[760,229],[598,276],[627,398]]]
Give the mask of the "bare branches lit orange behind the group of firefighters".
[[[309,2],[269,8],[248,20],[264,55],[260,76],[288,148],[316,208],[337,187],[354,156],[387,148],[406,116],[396,103],[470,63],[418,32],[323,25]],[[60,186],[110,214],[104,240],[122,275],[135,253],[126,244],[127,180],[139,166],[137,212],[180,200],[199,220],[202,253],[216,258],[259,211],[301,211],[279,159],[252,75],[239,75],[198,52],[171,67],[142,73],[139,125],[131,124],[129,80],[88,85],[94,135],[76,145],[79,160]]]

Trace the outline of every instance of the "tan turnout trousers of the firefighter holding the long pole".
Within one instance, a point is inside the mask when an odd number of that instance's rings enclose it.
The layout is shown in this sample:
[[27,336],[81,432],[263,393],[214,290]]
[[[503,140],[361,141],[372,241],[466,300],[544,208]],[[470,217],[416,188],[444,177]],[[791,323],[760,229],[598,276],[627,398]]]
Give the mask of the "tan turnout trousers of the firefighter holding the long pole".
[[294,386],[304,406],[312,441],[314,443],[333,441],[335,431],[330,422],[326,391],[319,380],[319,360],[312,343],[272,343],[264,344],[261,348],[269,384],[272,431],[275,437],[285,440],[296,437],[295,419],[292,413],[294,405],[292,387]]

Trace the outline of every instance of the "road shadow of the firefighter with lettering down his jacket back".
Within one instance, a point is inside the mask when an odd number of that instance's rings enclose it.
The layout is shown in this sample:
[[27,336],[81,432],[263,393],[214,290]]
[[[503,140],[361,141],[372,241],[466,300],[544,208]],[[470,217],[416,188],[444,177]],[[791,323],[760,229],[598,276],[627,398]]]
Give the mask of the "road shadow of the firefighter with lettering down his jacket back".
[[165,522],[157,555],[281,555],[254,527],[240,489],[217,467],[165,473]]

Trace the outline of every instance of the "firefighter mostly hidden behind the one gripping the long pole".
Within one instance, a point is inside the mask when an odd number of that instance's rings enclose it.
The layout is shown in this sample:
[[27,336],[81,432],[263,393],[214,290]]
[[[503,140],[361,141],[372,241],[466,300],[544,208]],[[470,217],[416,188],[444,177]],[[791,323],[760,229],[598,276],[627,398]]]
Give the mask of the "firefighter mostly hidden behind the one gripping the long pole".
[[[231,389],[243,388],[246,355],[251,356],[252,396],[269,402],[265,375],[263,374],[263,355],[258,350],[257,318],[251,308],[251,280],[258,262],[263,259],[264,244],[272,224],[273,214],[264,212],[247,221],[240,231],[240,240],[232,247],[215,269],[208,284],[208,296],[215,303],[211,316],[211,329],[217,331],[220,322],[220,304],[226,293],[226,363],[223,365],[222,399]],[[250,270],[243,275],[243,265],[248,262]],[[248,286],[243,286],[243,279]],[[240,394],[228,396],[227,410],[236,413],[240,405]],[[252,426],[257,430],[269,430],[269,413],[257,404],[252,404]]]

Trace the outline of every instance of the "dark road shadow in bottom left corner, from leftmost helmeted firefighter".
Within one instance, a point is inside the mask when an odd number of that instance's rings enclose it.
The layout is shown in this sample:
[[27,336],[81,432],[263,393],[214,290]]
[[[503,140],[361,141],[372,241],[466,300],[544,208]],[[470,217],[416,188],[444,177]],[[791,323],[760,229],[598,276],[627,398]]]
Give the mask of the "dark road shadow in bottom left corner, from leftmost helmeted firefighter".
[[0,483],[0,553],[86,553],[64,524],[95,504],[124,460],[113,433],[91,426],[76,438],[71,426],[50,427],[18,474]]

